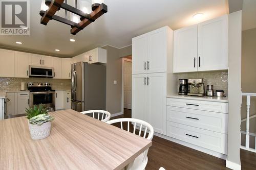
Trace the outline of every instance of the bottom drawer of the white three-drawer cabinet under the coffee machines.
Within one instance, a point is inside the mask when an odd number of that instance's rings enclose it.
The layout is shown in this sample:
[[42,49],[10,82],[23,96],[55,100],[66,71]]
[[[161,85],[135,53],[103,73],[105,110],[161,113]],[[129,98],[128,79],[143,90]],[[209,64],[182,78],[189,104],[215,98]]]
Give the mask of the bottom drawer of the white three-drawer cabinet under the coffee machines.
[[227,134],[194,128],[167,121],[167,136],[227,154]]

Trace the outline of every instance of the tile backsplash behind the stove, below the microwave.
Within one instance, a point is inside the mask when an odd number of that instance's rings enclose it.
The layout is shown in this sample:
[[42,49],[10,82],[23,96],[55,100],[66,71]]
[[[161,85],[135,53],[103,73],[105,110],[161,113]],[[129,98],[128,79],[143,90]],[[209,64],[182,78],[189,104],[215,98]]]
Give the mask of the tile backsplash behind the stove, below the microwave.
[[47,79],[47,78],[6,78],[0,77],[0,91],[19,91],[20,84],[25,82],[48,82],[54,90],[71,90],[70,79]]

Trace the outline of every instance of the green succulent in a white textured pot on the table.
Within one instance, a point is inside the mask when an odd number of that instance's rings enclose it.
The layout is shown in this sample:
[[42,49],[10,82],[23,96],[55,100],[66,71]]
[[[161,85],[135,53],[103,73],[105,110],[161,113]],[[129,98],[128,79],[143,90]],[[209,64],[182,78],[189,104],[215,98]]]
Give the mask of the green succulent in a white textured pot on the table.
[[42,105],[34,108],[26,108],[29,131],[33,140],[44,139],[50,135],[53,116],[48,114],[46,108]]

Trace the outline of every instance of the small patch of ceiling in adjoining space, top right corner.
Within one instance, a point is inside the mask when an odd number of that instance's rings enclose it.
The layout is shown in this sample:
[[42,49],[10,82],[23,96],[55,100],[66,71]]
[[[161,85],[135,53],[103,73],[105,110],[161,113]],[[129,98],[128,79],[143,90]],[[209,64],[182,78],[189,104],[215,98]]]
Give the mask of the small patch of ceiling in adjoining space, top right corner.
[[256,28],[256,0],[244,0],[242,9],[242,30]]

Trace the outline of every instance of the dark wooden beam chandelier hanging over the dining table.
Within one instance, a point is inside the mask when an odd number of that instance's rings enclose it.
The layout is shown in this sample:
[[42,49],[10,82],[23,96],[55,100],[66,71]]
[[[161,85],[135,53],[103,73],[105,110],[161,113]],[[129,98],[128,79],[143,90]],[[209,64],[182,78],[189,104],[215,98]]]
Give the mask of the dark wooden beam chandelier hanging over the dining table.
[[[71,26],[70,33],[76,35],[83,28],[87,27],[90,23],[94,22],[97,18],[99,18],[104,13],[108,12],[108,6],[105,4],[93,4],[92,12],[90,14],[84,13],[77,8],[74,8],[66,3],[63,3],[65,0],[46,0],[46,5],[49,7],[48,10],[42,11],[40,10],[41,15],[41,24],[47,25],[47,23],[54,19],[56,21],[65,23]],[[60,8],[65,9],[69,12],[72,12],[76,15],[80,16],[80,22],[76,23],[66,18],[62,18],[60,16],[55,15],[55,13],[60,10]]]

